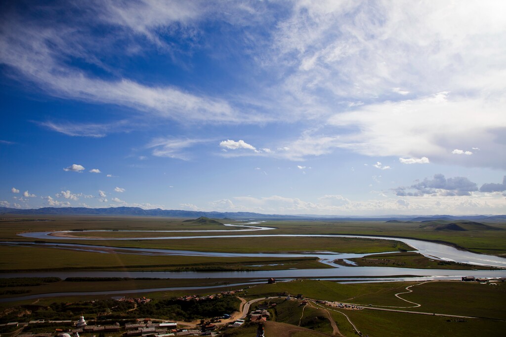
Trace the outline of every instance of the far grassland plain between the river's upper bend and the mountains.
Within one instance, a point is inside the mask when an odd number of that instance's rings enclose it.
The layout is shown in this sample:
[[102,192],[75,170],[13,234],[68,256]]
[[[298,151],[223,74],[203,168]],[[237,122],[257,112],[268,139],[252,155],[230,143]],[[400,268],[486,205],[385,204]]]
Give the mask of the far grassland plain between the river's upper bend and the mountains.
[[[51,220],[51,221],[34,221],[34,220]],[[384,235],[394,237],[409,237],[436,242],[446,242],[470,251],[491,254],[506,254],[506,222],[490,222],[490,226],[499,228],[500,230],[434,230],[424,227],[424,223],[419,222],[383,222],[383,221],[266,221],[263,226],[275,227],[276,229],[268,231],[269,234],[360,234],[360,235]],[[0,221],[1,234],[0,239],[5,240],[27,240],[16,235],[22,231],[45,231],[45,230],[79,230],[79,229],[110,229],[110,230],[210,230],[210,229],[230,229],[222,225],[207,223],[184,222],[183,219],[167,219],[167,218],[142,218],[142,217],[34,217],[34,216],[3,216]],[[479,228],[476,227],[475,228]],[[260,233],[260,232],[257,232]],[[76,235],[88,235],[76,232]],[[120,232],[109,232],[108,235],[119,236]],[[237,232],[221,232],[220,235],[233,235]],[[262,234],[267,234],[262,232]],[[95,235],[104,235],[96,233]],[[130,234],[129,234],[130,235]],[[150,233],[148,235],[155,235]],[[146,235],[146,236],[148,236]],[[192,236],[195,233],[179,232],[179,233],[163,233],[163,236]],[[156,236],[156,235],[155,235]],[[75,241],[74,241],[75,242]],[[87,242],[91,244],[92,242]],[[93,242],[94,244],[114,245],[113,242]],[[143,243],[129,242],[135,247],[167,247],[167,242]],[[118,244],[116,242],[115,245]]]

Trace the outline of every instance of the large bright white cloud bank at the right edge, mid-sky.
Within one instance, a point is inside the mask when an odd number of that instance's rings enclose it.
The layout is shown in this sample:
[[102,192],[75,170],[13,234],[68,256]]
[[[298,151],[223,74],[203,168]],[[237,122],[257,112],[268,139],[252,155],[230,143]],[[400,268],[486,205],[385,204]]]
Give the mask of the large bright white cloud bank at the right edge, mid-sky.
[[[481,111],[480,118],[475,118]],[[506,128],[506,117],[500,102],[484,103],[478,99],[455,97],[447,93],[402,102],[384,102],[359,110],[336,114],[329,124],[358,129],[340,136],[305,135],[299,143],[306,148],[313,143],[321,147],[315,154],[329,153],[334,148],[347,149],[367,156],[429,155],[431,161],[473,166],[506,166],[496,153],[503,146],[495,141],[501,128]],[[487,151],[473,160],[455,160],[446,149],[461,143],[480,142]],[[311,147],[309,147],[311,149]],[[463,151],[463,154],[466,154]],[[429,157],[427,156],[427,157]],[[473,156],[474,157],[474,156]]]

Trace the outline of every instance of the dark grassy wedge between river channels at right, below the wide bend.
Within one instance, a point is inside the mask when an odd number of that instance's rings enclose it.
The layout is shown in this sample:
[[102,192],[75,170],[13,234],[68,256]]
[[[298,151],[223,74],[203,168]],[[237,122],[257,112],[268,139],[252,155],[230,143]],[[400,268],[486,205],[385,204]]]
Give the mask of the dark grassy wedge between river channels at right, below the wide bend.
[[[457,269],[457,270],[492,270],[495,267],[478,266],[453,261],[438,261],[429,259],[418,253],[405,252],[387,255],[367,255],[363,258],[349,259],[360,267],[401,267],[426,269]],[[335,261],[344,266],[352,266],[343,260]]]

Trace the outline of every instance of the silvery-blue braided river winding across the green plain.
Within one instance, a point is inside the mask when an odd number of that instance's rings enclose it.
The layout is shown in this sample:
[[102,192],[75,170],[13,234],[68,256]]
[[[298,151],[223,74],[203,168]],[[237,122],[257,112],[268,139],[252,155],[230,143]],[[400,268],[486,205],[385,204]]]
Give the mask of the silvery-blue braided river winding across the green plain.
[[[225,231],[265,231],[272,230],[272,227],[255,226],[260,222],[249,222],[241,225],[230,225],[230,227],[243,227],[241,229],[230,229]],[[204,232],[214,232],[223,230],[205,230]],[[87,231],[79,231],[79,233]],[[90,231],[91,232],[91,231]],[[93,231],[97,232],[97,231]],[[115,231],[121,232],[121,230]],[[132,232],[132,231],[127,231]],[[142,231],[146,232],[146,231]],[[175,231],[156,231],[156,232],[175,232]],[[185,231],[186,232],[186,231]],[[68,234],[70,236],[57,236]],[[491,266],[506,268],[506,259],[477,254],[468,251],[458,250],[454,247],[428,242],[424,240],[388,237],[388,236],[365,236],[365,235],[338,235],[338,234],[234,234],[234,235],[198,235],[198,236],[157,236],[157,237],[114,237],[114,238],[95,238],[95,237],[78,237],[71,236],[72,231],[58,232],[29,232],[20,233],[24,237],[30,237],[37,240],[136,240],[136,239],[192,239],[192,238],[228,238],[234,237],[279,237],[280,239],[289,237],[356,237],[356,238],[375,238],[398,240],[415,249],[416,253],[423,254],[429,258],[437,260],[454,261],[459,263],[467,263],[481,266]],[[317,257],[320,262],[332,266],[333,268],[322,269],[287,269],[287,270],[269,270],[269,271],[224,271],[224,272],[160,272],[160,271],[54,271],[54,272],[27,272],[27,273],[0,273],[0,277],[45,277],[58,276],[61,278],[73,276],[90,276],[90,277],[159,277],[159,278],[298,278],[298,277],[354,277],[364,278],[364,280],[372,280],[369,277],[393,277],[399,280],[413,279],[415,277],[426,278],[460,278],[465,275],[473,275],[475,277],[506,277],[506,269],[503,270],[448,270],[448,269],[415,269],[415,268],[394,268],[394,267],[347,267],[333,263],[336,259],[360,258],[367,254],[348,254],[334,252],[298,252],[298,253],[220,253],[220,252],[197,252],[197,251],[178,251],[166,249],[144,249],[144,248],[118,248],[111,246],[68,244],[58,242],[0,242],[0,245],[29,245],[30,247],[53,247],[58,249],[71,249],[80,251],[93,251],[119,254],[142,254],[142,255],[175,255],[175,256],[215,256],[215,257]],[[385,253],[387,254],[387,253]],[[367,277],[367,279],[365,278]]]

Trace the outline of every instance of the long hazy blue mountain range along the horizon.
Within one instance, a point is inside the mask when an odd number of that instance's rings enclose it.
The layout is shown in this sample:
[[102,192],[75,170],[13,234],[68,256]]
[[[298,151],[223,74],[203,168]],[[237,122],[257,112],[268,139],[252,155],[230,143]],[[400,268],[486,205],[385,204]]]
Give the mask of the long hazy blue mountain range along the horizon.
[[139,207],[109,207],[109,208],[86,208],[86,207],[44,207],[38,209],[17,209],[0,207],[0,214],[20,214],[20,215],[111,215],[111,216],[147,216],[147,217],[167,217],[167,218],[187,218],[195,219],[207,217],[213,219],[230,218],[236,220],[327,220],[327,221],[428,221],[428,220],[482,220],[482,221],[500,221],[506,220],[506,215],[471,215],[471,216],[453,216],[453,215],[433,215],[424,217],[409,216],[391,216],[391,217],[331,217],[317,215],[279,215],[279,214],[261,214],[252,212],[201,212],[184,210],[145,210]]

